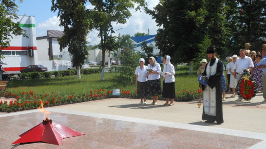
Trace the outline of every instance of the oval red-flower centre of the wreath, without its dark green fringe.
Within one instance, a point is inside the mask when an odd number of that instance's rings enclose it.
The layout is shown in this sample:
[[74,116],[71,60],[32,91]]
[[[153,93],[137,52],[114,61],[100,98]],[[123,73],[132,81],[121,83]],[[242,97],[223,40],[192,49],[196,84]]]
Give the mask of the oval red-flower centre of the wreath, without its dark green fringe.
[[248,79],[248,80],[242,79],[241,80],[240,93],[241,93],[242,97],[246,100],[249,100],[254,96],[254,85],[250,79]]

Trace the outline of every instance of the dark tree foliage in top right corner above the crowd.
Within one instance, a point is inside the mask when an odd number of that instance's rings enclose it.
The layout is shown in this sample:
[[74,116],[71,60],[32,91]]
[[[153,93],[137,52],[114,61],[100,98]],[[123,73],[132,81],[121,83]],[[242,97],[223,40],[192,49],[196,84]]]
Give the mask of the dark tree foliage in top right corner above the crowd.
[[[260,51],[266,42],[266,0],[238,0],[238,38],[239,48],[251,43],[251,50]],[[241,12],[240,12],[241,10]]]

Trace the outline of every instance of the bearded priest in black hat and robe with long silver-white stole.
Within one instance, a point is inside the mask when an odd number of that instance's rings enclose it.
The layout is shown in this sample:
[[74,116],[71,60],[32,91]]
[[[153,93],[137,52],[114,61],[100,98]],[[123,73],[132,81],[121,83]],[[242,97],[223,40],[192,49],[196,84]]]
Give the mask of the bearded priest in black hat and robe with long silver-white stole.
[[223,119],[222,82],[223,63],[216,58],[213,47],[208,47],[207,55],[210,60],[206,64],[203,76],[207,78],[207,85],[203,85],[203,114],[202,120],[206,123],[221,124]]

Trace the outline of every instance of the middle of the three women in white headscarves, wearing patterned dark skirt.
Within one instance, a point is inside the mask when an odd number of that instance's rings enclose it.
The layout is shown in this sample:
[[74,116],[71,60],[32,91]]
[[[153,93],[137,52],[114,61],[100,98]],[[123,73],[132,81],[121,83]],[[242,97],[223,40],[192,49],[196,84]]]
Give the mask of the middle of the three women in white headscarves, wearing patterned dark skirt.
[[161,66],[154,57],[149,58],[148,65],[148,94],[152,96],[152,105],[157,105],[158,96],[162,94],[160,74],[162,73]]

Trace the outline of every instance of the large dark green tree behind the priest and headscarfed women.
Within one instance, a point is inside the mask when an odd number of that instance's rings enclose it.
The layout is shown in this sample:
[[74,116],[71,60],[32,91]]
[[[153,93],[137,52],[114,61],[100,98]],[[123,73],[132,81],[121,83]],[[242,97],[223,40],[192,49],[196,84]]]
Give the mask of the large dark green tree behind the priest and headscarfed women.
[[154,10],[146,10],[161,27],[156,46],[173,57],[173,63],[189,63],[190,74],[192,60],[206,53],[204,43],[224,55],[232,36],[227,4],[227,0],[161,0]]

